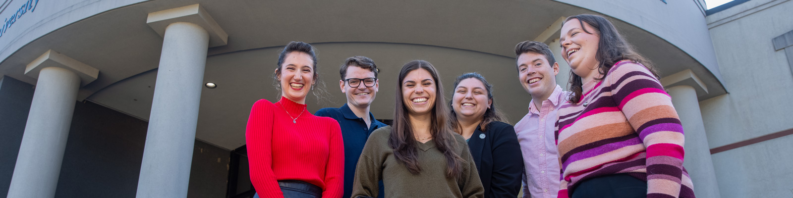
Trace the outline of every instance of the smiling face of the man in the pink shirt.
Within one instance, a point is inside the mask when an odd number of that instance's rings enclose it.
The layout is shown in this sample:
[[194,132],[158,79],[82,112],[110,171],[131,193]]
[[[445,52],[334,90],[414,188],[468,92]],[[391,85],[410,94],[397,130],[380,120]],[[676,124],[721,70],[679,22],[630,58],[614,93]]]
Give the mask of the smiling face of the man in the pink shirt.
[[550,65],[545,55],[526,52],[518,56],[518,79],[531,97],[544,101],[554,93],[559,64]]

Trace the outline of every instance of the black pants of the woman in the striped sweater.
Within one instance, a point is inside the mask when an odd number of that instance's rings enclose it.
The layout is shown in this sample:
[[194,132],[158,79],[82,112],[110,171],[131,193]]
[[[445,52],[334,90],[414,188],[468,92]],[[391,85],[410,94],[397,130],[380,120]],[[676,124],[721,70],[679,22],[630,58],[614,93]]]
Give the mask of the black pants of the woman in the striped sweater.
[[638,198],[647,197],[647,182],[627,174],[614,174],[582,181],[573,190],[572,198]]

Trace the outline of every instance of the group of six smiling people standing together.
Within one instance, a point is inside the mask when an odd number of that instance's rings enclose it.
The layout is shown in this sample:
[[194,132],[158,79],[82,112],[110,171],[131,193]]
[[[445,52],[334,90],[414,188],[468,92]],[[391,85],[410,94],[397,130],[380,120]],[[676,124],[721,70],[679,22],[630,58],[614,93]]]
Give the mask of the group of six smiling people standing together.
[[568,17],[561,56],[569,91],[546,44],[515,46],[528,113],[507,124],[492,85],[459,76],[447,102],[439,71],[414,60],[398,74],[393,124],[370,112],[379,89],[372,59],[339,70],[340,108],[312,115],[316,54],[292,42],[278,57],[280,101],[251,109],[246,142],[259,197],[694,197],[683,168],[683,127],[649,60],[604,17]]

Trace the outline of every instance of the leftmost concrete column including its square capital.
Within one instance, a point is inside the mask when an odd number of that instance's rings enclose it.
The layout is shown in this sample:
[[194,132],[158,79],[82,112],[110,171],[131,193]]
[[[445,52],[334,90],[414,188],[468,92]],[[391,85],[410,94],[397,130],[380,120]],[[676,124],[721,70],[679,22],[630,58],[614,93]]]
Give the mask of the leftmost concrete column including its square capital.
[[8,197],[54,197],[77,91],[99,70],[47,51],[25,68],[38,78]]

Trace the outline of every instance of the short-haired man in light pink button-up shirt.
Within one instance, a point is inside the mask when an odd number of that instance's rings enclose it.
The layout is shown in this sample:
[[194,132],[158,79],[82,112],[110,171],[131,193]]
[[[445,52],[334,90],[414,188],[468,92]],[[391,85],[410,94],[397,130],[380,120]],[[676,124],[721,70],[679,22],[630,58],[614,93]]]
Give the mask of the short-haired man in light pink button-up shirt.
[[569,92],[556,84],[559,64],[548,45],[523,41],[515,55],[520,85],[531,94],[529,112],[515,124],[523,151],[523,197],[556,198],[561,177],[554,124]]

